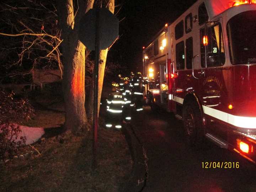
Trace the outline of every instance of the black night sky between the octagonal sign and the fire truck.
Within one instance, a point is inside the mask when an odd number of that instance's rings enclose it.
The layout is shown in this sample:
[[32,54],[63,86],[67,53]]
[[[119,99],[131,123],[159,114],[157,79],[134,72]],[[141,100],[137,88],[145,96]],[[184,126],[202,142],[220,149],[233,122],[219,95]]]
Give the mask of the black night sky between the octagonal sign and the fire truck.
[[[165,23],[171,23],[196,0],[117,0],[121,36],[109,52],[109,60],[142,70],[142,47],[147,46]],[[116,7],[116,10],[118,7]],[[116,11],[115,11],[116,12]],[[137,69],[138,67],[138,69]]]

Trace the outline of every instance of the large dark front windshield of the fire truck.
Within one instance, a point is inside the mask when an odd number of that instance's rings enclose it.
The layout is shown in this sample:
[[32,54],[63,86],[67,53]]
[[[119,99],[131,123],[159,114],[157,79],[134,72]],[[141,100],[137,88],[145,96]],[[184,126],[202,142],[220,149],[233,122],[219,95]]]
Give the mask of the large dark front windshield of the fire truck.
[[242,12],[227,24],[230,62],[236,64],[256,63],[256,11]]

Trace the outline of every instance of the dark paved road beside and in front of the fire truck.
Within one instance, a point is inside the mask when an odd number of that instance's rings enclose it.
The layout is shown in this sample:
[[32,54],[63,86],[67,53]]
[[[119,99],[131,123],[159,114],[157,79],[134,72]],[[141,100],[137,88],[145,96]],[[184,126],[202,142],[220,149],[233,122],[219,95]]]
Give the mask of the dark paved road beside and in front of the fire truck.
[[[182,122],[149,107],[134,112],[131,124],[148,156],[143,192],[256,192],[256,166],[240,155],[207,143],[203,150],[185,143]],[[202,162],[239,162],[239,168],[203,169]]]

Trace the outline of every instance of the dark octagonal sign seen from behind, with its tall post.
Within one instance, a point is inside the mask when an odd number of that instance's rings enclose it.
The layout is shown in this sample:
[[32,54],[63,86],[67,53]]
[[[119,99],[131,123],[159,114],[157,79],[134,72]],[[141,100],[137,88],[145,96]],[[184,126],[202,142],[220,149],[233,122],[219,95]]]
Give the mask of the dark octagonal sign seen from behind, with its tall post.
[[94,143],[92,169],[97,167],[97,129],[98,129],[98,65],[100,50],[118,37],[118,19],[106,8],[90,9],[80,21],[79,40],[87,49],[95,50],[94,63]]

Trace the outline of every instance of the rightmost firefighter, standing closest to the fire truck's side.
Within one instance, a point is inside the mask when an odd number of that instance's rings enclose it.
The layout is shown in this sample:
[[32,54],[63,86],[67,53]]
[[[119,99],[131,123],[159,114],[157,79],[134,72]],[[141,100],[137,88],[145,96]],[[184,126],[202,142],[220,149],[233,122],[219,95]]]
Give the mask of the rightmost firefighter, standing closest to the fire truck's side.
[[136,111],[143,110],[143,78],[140,72],[137,72],[133,78],[133,102],[135,103]]

